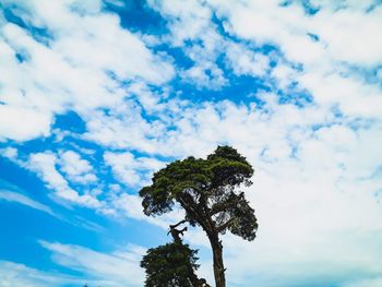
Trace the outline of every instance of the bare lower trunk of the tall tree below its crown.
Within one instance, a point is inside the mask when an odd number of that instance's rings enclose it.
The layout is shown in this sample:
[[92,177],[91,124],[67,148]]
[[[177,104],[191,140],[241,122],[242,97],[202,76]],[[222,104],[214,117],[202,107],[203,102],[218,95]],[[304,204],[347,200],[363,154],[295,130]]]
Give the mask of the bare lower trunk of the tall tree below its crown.
[[223,246],[217,234],[208,235],[213,259],[214,259],[214,276],[216,287],[226,287],[226,276],[223,263]]

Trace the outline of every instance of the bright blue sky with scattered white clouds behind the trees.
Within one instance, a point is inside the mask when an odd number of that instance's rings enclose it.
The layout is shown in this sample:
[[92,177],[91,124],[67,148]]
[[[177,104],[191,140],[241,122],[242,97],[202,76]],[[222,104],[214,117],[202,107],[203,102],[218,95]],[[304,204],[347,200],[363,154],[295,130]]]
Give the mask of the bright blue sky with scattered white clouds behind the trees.
[[139,190],[217,145],[255,170],[228,286],[382,286],[381,31],[370,0],[0,0],[0,286],[143,286],[182,213]]

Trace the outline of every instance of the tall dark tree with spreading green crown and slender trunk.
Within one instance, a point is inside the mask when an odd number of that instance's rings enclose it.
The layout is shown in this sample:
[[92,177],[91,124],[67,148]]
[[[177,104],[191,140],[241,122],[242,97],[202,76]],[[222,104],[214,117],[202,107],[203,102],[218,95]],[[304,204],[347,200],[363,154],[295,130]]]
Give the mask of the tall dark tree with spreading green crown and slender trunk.
[[246,157],[230,146],[218,146],[206,159],[191,156],[167,165],[140,191],[147,216],[168,213],[177,202],[186,212],[183,222],[203,228],[213,251],[216,287],[226,286],[219,234],[228,230],[246,240],[255,238],[254,211],[237,190],[251,186],[252,175]]

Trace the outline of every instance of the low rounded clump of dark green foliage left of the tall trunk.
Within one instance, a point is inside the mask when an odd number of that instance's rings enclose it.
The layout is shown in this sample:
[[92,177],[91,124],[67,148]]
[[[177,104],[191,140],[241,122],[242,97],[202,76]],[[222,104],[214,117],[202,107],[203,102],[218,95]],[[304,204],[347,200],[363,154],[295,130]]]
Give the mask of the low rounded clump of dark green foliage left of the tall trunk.
[[191,287],[192,276],[199,267],[196,252],[179,242],[150,249],[141,261],[141,267],[146,270],[145,286]]

